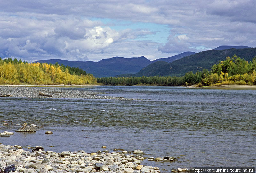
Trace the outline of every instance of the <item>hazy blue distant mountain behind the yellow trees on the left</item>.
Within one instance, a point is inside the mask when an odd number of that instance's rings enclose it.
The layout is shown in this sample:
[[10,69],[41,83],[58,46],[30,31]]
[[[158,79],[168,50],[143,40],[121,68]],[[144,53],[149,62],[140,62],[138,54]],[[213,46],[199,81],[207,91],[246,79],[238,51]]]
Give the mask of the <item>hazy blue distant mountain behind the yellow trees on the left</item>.
[[137,73],[143,67],[151,64],[151,61],[145,57],[113,57],[108,59],[102,59],[98,62],[93,61],[67,61],[61,59],[49,59],[40,60],[36,62],[41,63],[52,63],[63,64],[70,67],[79,67],[86,71],[86,73],[91,73],[95,77],[109,77],[116,76],[124,73]]

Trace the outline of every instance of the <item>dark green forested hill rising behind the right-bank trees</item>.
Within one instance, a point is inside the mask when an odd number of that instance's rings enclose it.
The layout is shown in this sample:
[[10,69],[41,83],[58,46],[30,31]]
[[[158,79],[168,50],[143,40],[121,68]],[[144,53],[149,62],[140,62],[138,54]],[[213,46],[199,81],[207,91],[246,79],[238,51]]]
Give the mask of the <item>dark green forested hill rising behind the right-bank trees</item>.
[[218,64],[220,60],[225,60],[226,57],[232,57],[234,54],[246,61],[252,61],[256,55],[256,48],[202,51],[172,63],[155,62],[131,76],[184,76],[189,71],[196,73],[197,70],[210,70],[213,64]]

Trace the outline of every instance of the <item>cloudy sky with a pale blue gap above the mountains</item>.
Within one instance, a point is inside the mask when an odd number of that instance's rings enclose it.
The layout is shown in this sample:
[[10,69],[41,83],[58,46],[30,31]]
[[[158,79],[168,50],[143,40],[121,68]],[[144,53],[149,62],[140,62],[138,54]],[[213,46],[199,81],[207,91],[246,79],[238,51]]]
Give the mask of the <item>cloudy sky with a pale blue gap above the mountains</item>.
[[8,0],[0,57],[149,60],[220,45],[256,47],[255,0]]

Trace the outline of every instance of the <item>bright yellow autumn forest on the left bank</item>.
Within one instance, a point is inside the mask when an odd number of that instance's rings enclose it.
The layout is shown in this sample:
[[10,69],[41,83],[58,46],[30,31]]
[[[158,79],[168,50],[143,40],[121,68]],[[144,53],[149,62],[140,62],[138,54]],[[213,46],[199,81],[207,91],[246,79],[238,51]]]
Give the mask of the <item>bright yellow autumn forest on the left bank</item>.
[[0,84],[97,84],[92,74],[75,67],[47,63],[28,63],[15,59],[0,58]]

